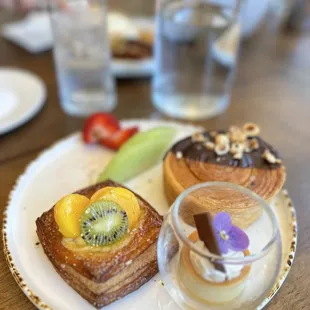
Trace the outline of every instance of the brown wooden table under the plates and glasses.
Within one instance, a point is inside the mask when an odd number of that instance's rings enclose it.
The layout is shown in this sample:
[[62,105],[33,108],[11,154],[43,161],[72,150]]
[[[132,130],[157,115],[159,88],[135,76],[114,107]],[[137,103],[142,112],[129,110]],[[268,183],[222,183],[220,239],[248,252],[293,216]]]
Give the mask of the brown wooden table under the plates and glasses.
[[[6,18],[9,18],[6,16]],[[3,21],[3,20],[2,20]],[[297,209],[299,241],[292,270],[268,309],[302,310],[310,306],[310,29],[261,32],[242,46],[232,103],[223,115],[201,122],[226,128],[257,122],[263,136],[285,157],[287,188]],[[33,56],[0,40],[0,66],[33,71],[47,84],[47,105],[23,127],[0,137],[0,211],[25,166],[46,147],[73,131],[82,119],[66,116],[59,107],[51,53]],[[163,118],[150,99],[150,81],[118,82],[118,118]],[[0,251],[0,309],[34,309],[7,268]]]

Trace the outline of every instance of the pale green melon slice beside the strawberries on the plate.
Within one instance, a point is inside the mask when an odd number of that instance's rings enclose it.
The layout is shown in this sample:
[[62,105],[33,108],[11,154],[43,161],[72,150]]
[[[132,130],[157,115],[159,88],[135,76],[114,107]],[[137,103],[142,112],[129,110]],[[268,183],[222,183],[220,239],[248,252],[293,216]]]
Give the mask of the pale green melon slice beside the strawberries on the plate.
[[100,174],[98,182],[107,179],[122,183],[156,165],[176,134],[173,127],[156,127],[130,138]]

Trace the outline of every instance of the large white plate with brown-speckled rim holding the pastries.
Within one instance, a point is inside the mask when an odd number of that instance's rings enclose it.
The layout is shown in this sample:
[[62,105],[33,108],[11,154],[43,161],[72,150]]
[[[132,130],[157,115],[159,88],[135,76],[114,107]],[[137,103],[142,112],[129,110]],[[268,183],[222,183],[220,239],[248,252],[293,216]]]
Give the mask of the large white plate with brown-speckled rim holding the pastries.
[[[126,121],[123,124],[138,125],[142,130],[158,125],[174,126],[178,129],[176,139],[197,130],[197,127],[150,120]],[[5,256],[15,280],[39,309],[94,309],[62,280],[41,246],[36,246],[38,237],[35,220],[63,195],[91,184],[112,156],[113,152],[102,147],[85,146],[80,134],[72,135],[33,161],[10,194],[3,225]],[[163,194],[161,164],[126,185],[147,199],[159,213],[167,212],[169,206]],[[266,296],[260,308],[270,301],[284,282],[296,248],[295,210],[287,193],[279,194],[272,205],[281,229],[283,262],[274,289]],[[179,307],[171,300],[159,280],[160,276],[155,276],[136,292],[105,309],[144,310],[147,304],[148,310],[178,310]]]

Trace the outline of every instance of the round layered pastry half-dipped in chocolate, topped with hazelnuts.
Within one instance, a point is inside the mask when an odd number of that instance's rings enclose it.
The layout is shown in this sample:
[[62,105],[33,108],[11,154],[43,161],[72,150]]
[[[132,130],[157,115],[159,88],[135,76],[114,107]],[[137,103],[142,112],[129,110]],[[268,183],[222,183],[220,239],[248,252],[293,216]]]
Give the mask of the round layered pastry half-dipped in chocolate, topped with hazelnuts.
[[[210,182],[231,182],[254,191],[270,200],[283,187],[286,172],[279,155],[268,143],[258,137],[259,128],[246,124],[243,129],[232,127],[229,131],[204,132],[177,142],[164,159],[164,190],[168,202],[192,185]],[[230,216],[235,225],[245,228],[261,215],[261,207],[239,192],[226,192],[212,199],[208,189],[199,196],[193,193],[183,216],[194,226],[193,215],[212,214],[230,206]]]

